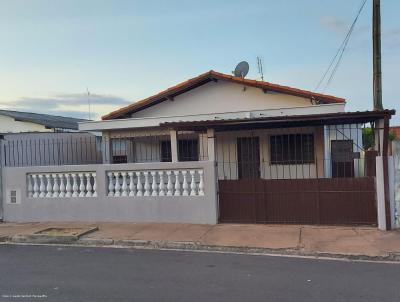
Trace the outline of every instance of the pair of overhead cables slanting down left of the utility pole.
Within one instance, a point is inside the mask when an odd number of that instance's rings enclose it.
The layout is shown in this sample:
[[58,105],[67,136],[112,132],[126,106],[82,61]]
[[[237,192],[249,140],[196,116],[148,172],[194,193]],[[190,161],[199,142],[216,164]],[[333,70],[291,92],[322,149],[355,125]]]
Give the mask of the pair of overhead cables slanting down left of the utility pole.
[[[338,69],[338,67],[339,67],[339,65],[340,65],[341,60],[342,60],[343,54],[344,54],[344,52],[345,52],[345,50],[346,50],[347,44],[348,44],[348,42],[349,42],[349,40],[350,40],[351,34],[353,33],[353,30],[354,30],[354,27],[355,27],[355,25],[356,25],[356,23],[357,23],[358,17],[360,16],[360,14],[361,14],[361,12],[362,12],[362,10],[363,10],[363,8],[364,8],[366,2],[367,2],[367,0],[363,0],[363,1],[362,1],[361,5],[360,5],[360,8],[358,9],[357,15],[356,15],[356,17],[354,18],[353,23],[351,24],[351,26],[350,26],[350,28],[349,28],[347,34],[346,34],[346,37],[344,38],[343,42],[340,44],[340,47],[339,47],[338,50],[336,51],[335,56],[332,58],[332,60],[331,60],[331,62],[330,62],[330,64],[329,64],[329,66],[328,66],[328,68],[327,68],[326,71],[324,72],[322,78],[321,78],[320,81],[318,82],[318,84],[317,84],[317,86],[315,87],[314,91],[317,91],[317,90],[321,87],[322,83],[323,83],[324,80],[326,79],[326,77],[327,77],[327,75],[328,75],[329,72],[331,72],[331,73],[330,73],[330,76],[329,76],[329,78],[328,78],[328,81],[327,81],[326,84],[325,84],[325,87],[324,87],[323,91],[325,91],[326,88],[329,86],[329,84],[332,82],[332,79],[333,79],[333,77],[335,76],[335,73],[336,73],[336,71],[337,71],[337,69]],[[336,63],[335,63],[335,62],[336,62]],[[332,68],[332,66],[333,66],[334,64],[335,64],[335,66]]]

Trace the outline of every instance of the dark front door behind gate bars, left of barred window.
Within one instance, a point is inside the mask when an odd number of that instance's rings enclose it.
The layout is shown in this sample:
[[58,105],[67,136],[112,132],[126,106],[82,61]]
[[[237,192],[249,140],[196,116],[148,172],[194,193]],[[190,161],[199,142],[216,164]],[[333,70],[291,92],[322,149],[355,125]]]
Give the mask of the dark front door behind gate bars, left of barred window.
[[260,178],[260,141],[258,137],[238,137],[239,179]]

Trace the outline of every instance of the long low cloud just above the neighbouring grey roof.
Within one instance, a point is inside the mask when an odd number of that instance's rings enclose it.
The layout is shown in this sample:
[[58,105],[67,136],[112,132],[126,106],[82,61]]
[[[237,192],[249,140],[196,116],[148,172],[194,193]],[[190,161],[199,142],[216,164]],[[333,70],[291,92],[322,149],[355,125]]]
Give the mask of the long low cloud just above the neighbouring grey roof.
[[[91,119],[96,119],[96,111],[104,111],[104,106],[121,107],[130,102],[113,95],[90,94]],[[88,118],[88,95],[85,93],[59,94],[52,97],[22,97],[13,102],[1,102],[8,110],[47,113],[76,118]]]

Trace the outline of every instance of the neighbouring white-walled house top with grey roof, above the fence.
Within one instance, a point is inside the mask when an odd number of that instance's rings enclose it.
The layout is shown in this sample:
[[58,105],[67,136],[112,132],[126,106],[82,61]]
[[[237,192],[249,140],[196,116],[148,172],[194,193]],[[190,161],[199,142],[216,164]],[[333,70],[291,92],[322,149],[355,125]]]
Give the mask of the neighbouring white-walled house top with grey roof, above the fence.
[[83,119],[72,117],[0,110],[0,133],[77,131]]

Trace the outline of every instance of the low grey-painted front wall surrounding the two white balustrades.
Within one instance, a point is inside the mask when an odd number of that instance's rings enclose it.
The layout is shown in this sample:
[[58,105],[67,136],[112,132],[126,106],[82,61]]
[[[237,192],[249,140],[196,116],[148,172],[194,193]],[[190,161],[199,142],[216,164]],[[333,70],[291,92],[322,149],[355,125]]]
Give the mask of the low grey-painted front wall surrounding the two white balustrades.
[[[108,171],[203,169],[203,196],[108,197]],[[97,197],[32,198],[27,193],[27,174],[96,172]],[[3,169],[4,220],[32,221],[121,221],[217,223],[215,163],[179,162],[114,165],[46,167],[9,167]],[[9,203],[10,190],[17,203]]]

